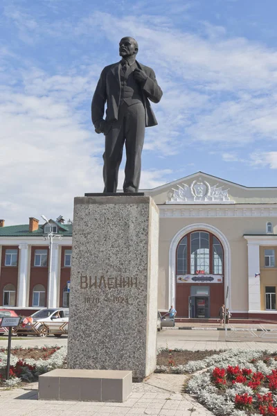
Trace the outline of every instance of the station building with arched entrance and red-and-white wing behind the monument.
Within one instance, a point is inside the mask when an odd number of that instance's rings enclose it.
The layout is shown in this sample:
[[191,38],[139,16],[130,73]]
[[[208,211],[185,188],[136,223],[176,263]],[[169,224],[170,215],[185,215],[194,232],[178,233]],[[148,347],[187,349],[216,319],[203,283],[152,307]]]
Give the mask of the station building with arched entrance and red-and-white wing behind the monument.
[[[144,192],[159,207],[159,309],[173,304],[179,318],[217,318],[224,303],[233,318],[277,320],[277,188],[198,172]],[[0,221],[3,307],[68,304],[72,226],[51,221],[63,239],[50,273],[47,225]]]

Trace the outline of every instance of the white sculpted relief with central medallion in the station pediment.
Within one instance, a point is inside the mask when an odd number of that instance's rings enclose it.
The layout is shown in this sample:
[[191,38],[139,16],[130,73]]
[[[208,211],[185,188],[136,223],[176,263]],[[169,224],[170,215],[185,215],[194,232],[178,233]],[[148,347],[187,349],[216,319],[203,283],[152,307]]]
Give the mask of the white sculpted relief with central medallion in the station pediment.
[[190,187],[187,184],[177,185],[177,189],[172,188],[168,193],[167,204],[194,204],[195,202],[213,203],[221,202],[225,204],[233,204],[234,201],[230,200],[228,196],[228,189],[224,187],[218,187],[218,185],[211,185],[202,180],[194,180]]

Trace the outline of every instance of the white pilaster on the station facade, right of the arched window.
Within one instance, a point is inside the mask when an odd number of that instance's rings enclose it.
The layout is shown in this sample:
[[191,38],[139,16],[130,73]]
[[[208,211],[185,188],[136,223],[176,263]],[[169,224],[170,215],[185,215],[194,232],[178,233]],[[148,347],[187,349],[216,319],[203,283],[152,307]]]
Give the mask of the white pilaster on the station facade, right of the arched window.
[[260,311],[260,245],[248,243],[248,309]]

